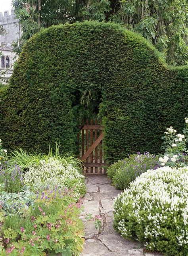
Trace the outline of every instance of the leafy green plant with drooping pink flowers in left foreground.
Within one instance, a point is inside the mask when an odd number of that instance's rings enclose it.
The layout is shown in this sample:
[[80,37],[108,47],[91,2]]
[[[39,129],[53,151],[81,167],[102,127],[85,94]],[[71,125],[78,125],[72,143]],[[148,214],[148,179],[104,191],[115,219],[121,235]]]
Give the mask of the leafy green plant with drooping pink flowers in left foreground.
[[[80,205],[71,191],[45,191],[25,216],[7,216],[1,255],[79,255],[84,239]],[[7,247],[7,248],[6,248]]]

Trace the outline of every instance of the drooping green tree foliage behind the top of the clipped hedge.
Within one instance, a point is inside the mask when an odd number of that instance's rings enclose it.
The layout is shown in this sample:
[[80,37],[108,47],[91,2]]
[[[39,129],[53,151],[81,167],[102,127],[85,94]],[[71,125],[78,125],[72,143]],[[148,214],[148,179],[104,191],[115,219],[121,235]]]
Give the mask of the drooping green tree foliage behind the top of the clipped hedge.
[[121,23],[140,33],[163,52],[167,63],[188,61],[187,0],[13,0],[22,36],[15,43],[19,53],[25,40],[41,28],[60,23],[96,20]]

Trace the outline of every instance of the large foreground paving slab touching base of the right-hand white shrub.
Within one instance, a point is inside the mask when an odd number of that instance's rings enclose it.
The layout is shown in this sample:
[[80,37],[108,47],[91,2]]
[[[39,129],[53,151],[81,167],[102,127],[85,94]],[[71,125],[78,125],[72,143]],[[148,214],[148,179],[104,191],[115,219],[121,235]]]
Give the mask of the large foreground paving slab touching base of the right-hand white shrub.
[[138,242],[132,242],[127,239],[123,239],[118,233],[112,233],[107,235],[100,235],[99,240],[109,248],[109,250],[115,251],[128,251],[134,249],[140,249]]

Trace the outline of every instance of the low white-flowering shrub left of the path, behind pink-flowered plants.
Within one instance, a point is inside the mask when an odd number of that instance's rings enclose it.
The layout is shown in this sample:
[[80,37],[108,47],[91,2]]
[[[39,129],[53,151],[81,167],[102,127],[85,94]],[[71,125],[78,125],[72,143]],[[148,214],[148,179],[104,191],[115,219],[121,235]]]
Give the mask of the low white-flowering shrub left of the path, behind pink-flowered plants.
[[71,165],[64,166],[54,157],[40,160],[37,166],[30,166],[23,176],[23,181],[34,190],[46,187],[73,189],[76,200],[86,192],[84,175]]

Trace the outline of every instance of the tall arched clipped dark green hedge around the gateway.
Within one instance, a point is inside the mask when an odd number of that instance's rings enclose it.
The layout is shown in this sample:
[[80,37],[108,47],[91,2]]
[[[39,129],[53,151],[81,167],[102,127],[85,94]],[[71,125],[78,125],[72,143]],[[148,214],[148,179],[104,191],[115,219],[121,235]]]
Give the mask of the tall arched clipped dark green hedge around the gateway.
[[148,41],[113,23],[52,26],[23,48],[2,101],[5,147],[77,150],[82,117],[105,125],[109,162],[157,153],[188,110],[188,67],[170,68]]

